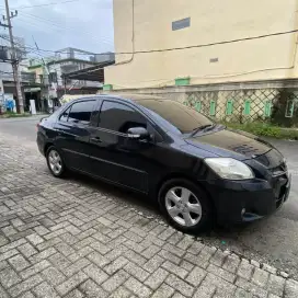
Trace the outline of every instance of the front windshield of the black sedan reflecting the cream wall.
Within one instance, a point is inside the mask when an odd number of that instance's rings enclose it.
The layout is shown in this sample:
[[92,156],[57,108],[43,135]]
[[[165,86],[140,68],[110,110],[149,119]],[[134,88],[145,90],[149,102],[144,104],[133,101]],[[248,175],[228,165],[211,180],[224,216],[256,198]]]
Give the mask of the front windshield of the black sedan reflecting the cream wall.
[[146,107],[153,117],[173,133],[190,134],[214,125],[214,123],[195,110],[170,100],[139,100],[139,105]]

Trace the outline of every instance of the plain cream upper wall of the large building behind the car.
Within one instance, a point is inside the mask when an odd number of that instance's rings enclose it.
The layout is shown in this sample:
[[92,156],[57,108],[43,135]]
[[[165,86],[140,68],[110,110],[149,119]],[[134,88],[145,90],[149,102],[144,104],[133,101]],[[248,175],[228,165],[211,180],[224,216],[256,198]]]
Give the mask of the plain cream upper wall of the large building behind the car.
[[135,54],[116,55],[106,83],[122,89],[184,78],[190,84],[297,78],[297,0],[114,0],[115,51]]

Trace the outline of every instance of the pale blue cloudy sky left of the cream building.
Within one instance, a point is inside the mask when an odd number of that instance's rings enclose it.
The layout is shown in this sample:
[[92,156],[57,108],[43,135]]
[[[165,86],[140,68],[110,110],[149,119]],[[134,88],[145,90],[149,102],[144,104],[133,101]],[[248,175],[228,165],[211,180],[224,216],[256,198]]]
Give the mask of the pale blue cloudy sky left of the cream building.
[[[114,50],[113,0],[10,0],[9,4],[11,11],[18,9],[11,20],[13,35],[25,38],[30,47],[35,47],[35,39],[41,49],[48,50]],[[0,0],[0,12],[5,13],[4,0]],[[0,33],[8,34],[8,30],[1,27]]]

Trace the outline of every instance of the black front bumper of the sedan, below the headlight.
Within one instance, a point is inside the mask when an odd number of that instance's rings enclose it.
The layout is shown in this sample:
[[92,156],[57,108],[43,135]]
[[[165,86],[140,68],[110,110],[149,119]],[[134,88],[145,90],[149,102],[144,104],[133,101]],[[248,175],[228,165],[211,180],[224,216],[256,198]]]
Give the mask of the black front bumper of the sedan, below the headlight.
[[221,224],[254,221],[278,210],[288,199],[290,175],[276,177],[271,182],[254,179],[252,181],[214,181],[209,191]]

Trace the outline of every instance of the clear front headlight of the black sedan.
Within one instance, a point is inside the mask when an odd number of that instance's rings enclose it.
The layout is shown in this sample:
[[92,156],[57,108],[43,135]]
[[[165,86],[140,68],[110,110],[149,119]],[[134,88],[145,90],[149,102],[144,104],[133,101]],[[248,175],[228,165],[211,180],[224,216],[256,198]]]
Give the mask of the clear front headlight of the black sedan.
[[222,179],[244,180],[252,179],[252,170],[241,161],[232,158],[207,158],[205,162]]

